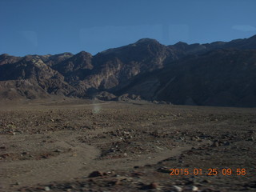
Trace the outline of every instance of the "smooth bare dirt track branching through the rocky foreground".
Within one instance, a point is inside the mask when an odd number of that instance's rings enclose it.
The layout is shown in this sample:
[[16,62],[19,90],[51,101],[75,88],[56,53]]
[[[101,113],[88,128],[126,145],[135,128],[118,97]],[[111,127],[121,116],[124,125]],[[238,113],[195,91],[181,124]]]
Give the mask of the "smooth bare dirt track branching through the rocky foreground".
[[[78,141],[78,136],[99,134],[99,132],[101,131],[58,131],[42,135],[15,135],[16,141],[30,138],[30,145],[35,145],[40,139],[54,140],[50,144],[50,150],[52,148],[60,148],[64,149],[65,152],[46,159],[18,160],[3,163],[3,174],[7,175],[3,186],[7,189],[16,182],[19,182],[20,186],[33,186],[38,183],[70,181],[72,178],[87,177],[94,170],[105,172],[127,170],[134,166],[157,163],[163,159],[182,154],[182,151],[190,150],[191,148],[191,145],[186,145],[172,150],[159,149],[159,152],[156,153],[138,154],[127,158],[98,159],[101,150],[96,146]],[[43,147],[44,150],[47,150],[46,146]]]

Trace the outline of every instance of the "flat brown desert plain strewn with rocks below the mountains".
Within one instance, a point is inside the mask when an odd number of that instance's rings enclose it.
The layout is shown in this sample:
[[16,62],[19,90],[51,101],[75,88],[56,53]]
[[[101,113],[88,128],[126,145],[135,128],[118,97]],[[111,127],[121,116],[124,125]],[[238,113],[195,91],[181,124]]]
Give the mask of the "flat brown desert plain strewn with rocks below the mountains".
[[0,106],[0,191],[256,191],[256,109],[62,98]]

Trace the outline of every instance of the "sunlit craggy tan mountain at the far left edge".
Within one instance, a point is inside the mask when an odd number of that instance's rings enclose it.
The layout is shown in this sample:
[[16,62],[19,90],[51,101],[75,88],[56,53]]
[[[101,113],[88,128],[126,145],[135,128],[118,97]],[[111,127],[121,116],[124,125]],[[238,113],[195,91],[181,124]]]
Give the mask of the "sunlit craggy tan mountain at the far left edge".
[[[48,94],[69,95],[74,91],[62,74],[47,66],[39,56],[29,55],[18,62],[2,65],[0,74],[1,93],[10,93],[14,98],[18,95],[26,98],[42,98]],[[8,98],[9,94],[2,95]]]

